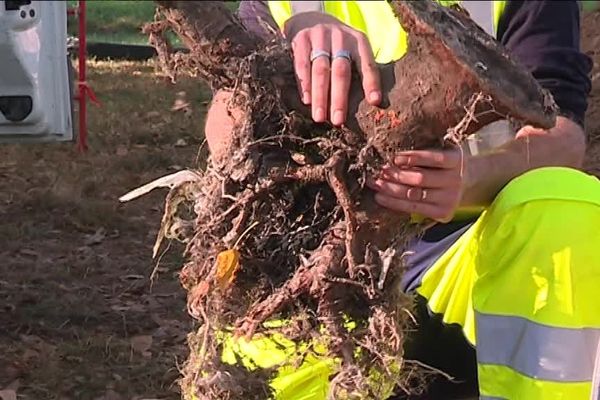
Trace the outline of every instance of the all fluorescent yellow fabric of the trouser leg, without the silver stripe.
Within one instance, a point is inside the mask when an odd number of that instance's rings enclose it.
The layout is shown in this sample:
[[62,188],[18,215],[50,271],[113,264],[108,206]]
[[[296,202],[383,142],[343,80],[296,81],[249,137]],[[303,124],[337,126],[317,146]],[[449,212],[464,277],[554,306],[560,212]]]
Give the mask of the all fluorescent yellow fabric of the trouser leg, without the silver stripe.
[[[600,181],[568,168],[537,169],[504,188],[427,271],[417,291],[445,322],[460,324],[475,346],[475,311],[549,327],[600,328],[598,243]],[[482,395],[493,398],[590,395],[589,382],[547,382],[508,367],[478,368]]]

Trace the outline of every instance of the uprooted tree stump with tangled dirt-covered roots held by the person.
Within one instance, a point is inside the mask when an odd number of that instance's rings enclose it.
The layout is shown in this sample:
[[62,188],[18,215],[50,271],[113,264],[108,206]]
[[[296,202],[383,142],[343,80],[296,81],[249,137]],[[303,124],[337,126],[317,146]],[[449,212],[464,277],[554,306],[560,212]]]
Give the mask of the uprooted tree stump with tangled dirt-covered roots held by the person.
[[[281,365],[225,363],[224,332],[324,345],[339,360],[332,398],[418,390],[425,374],[402,357],[412,298],[398,282],[407,241],[429,221],[377,207],[365,178],[400,149],[455,146],[501,118],[550,127],[551,96],[460,9],[394,1],[410,50],[380,66],[383,105],[368,105],[355,80],[347,126],[317,125],[299,102],[283,40],[253,36],[219,2],[158,3],[145,31],[163,68],[231,90],[243,116],[229,158],[156,184],[171,187],[160,238],[187,244],[180,276],[200,323],[187,398],[270,396]],[[169,30],[188,53],[172,54]]]

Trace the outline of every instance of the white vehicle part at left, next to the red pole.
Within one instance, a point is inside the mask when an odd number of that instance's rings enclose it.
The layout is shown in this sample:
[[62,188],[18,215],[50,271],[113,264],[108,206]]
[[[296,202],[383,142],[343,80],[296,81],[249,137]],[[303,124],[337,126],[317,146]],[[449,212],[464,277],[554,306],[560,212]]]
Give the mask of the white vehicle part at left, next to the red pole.
[[0,0],[0,143],[74,140],[67,2]]

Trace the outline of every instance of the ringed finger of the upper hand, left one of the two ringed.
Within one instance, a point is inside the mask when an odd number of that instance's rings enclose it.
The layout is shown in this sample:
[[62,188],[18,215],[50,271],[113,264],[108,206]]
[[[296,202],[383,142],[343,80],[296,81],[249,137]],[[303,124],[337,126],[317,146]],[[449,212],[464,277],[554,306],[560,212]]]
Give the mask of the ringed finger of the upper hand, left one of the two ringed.
[[[322,25],[314,27],[310,32],[310,40],[312,50],[324,51],[331,54],[329,28]],[[329,57],[317,57],[312,62],[311,104],[312,117],[315,122],[325,122],[327,120],[330,68]]]

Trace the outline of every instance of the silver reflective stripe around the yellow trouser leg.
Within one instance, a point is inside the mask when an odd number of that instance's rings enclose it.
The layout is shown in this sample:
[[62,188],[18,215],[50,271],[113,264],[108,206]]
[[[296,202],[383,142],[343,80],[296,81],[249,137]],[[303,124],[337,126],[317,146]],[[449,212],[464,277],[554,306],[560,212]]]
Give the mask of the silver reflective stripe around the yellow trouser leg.
[[476,312],[477,362],[503,365],[534,379],[589,382],[600,329],[555,328],[521,317]]

